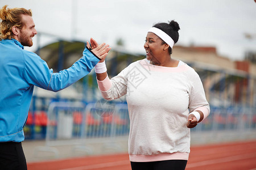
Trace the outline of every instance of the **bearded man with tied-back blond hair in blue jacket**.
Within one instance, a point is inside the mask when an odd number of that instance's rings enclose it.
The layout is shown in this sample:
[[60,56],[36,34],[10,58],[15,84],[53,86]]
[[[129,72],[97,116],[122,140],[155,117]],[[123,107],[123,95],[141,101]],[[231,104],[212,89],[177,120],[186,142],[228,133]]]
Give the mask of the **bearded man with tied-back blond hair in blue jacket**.
[[87,42],[79,61],[53,73],[38,55],[24,50],[37,34],[31,10],[6,5],[0,18],[0,169],[27,169],[21,142],[34,86],[60,91],[90,73],[110,48],[104,43],[90,49]]

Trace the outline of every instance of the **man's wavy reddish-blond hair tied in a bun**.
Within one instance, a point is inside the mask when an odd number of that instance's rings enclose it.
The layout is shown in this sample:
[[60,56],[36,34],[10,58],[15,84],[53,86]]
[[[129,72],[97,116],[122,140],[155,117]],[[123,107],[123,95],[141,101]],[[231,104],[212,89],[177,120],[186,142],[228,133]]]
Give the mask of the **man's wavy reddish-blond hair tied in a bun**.
[[12,28],[16,26],[17,28],[23,27],[22,15],[32,16],[31,10],[26,10],[25,8],[7,8],[8,5],[3,6],[0,10],[0,19],[2,22],[0,24],[0,39],[11,39],[13,37]]

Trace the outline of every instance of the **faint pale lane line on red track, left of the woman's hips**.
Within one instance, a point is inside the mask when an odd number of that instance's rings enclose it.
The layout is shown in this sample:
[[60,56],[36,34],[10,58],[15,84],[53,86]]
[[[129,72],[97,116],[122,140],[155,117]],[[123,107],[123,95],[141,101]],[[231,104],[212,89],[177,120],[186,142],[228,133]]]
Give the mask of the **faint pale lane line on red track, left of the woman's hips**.
[[85,165],[82,167],[76,168],[67,168],[67,169],[60,169],[60,170],[88,170],[88,169],[96,169],[96,168],[106,168],[106,167],[116,167],[119,165],[130,165],[129,160],[121,160],[117,162],[109,162],[109,163],[101,163],[101,164],[94,164],[94,165]]

